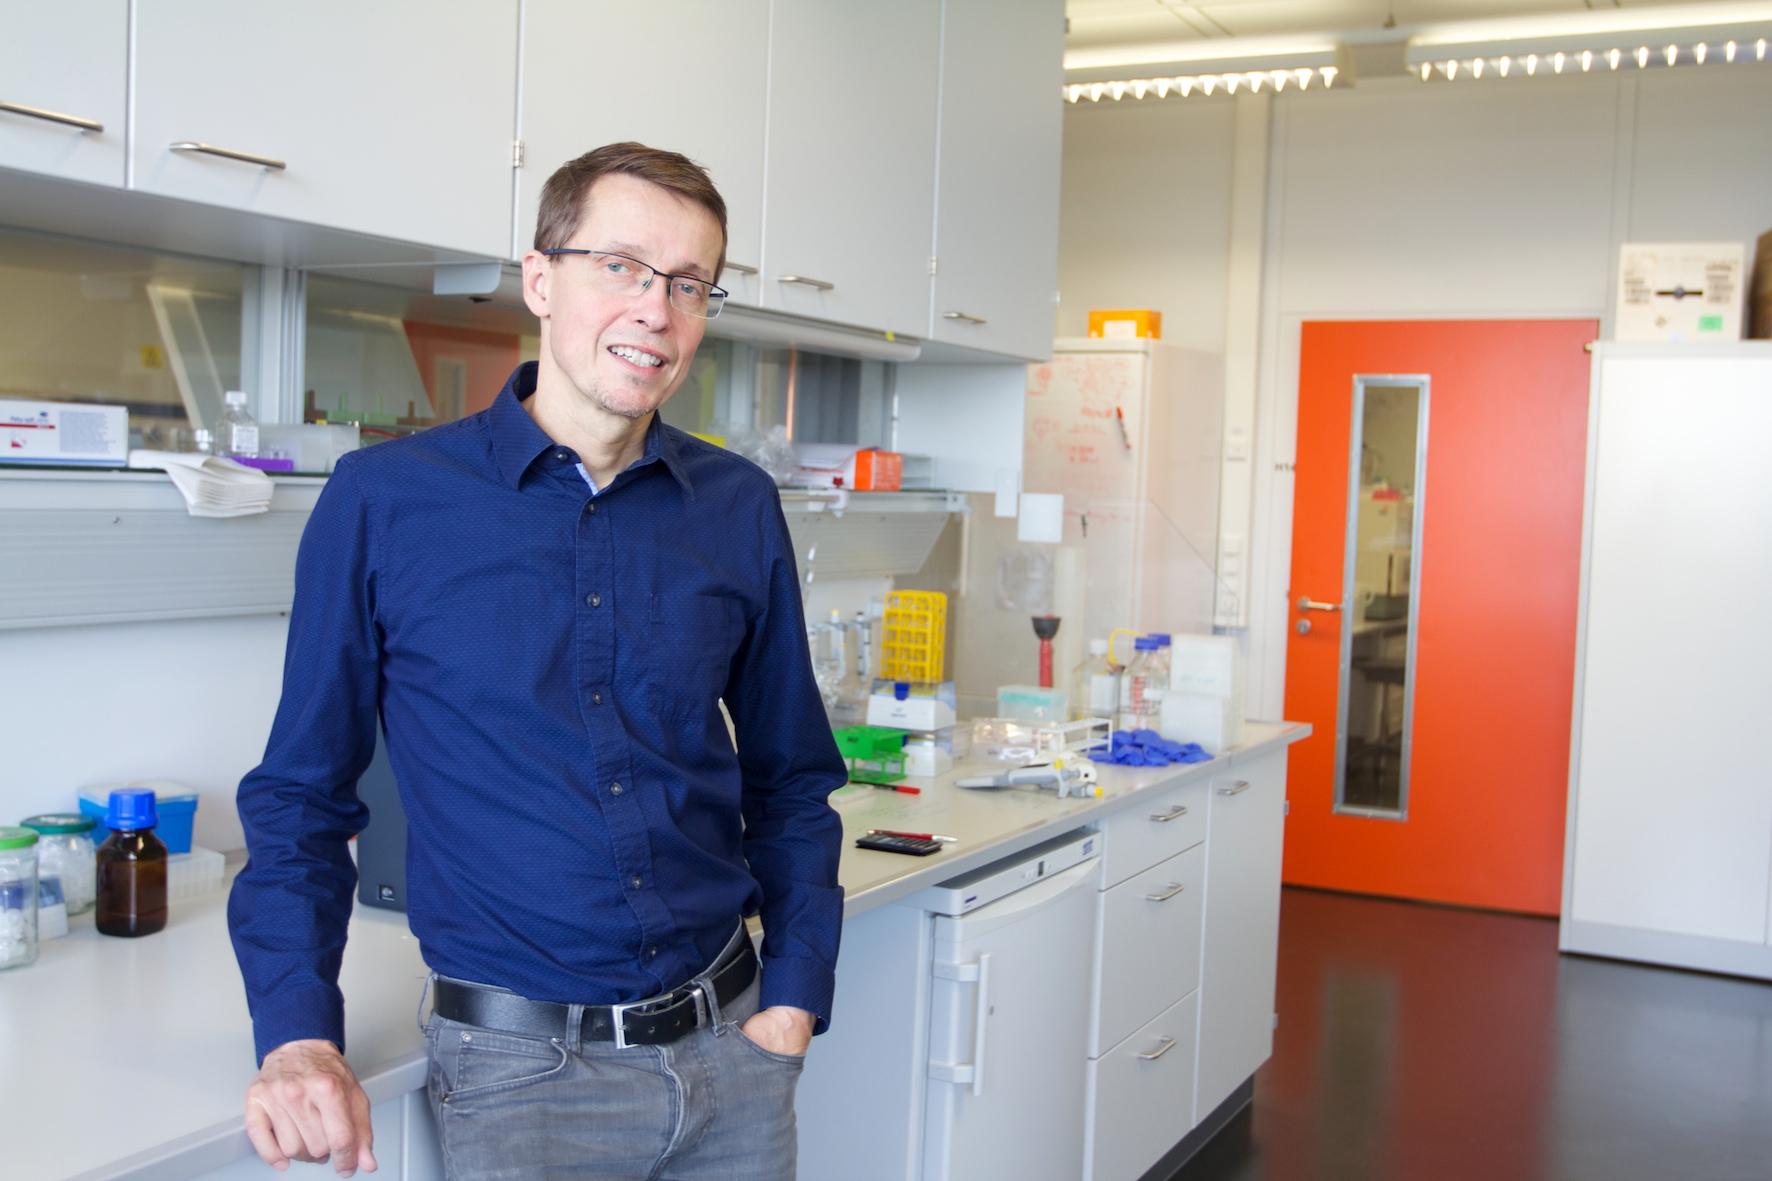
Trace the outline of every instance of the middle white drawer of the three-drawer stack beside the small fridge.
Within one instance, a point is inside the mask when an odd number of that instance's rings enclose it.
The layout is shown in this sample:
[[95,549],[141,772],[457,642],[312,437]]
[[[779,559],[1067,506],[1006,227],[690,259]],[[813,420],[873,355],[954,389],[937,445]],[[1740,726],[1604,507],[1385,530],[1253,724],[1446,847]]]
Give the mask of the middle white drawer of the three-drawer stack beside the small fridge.
[[1100,894],[1090,1057],[1200,986],[1207,849],[1196,844]]

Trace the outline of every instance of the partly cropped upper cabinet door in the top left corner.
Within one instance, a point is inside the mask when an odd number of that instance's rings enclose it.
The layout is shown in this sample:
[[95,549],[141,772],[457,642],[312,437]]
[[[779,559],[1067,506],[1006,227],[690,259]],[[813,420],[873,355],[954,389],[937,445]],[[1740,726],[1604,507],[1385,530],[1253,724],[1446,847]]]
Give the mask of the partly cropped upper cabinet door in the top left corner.
[[0,0],[0,103],[103,126],[0,110],[0,168],[120,186],[128,80],[128,0]]

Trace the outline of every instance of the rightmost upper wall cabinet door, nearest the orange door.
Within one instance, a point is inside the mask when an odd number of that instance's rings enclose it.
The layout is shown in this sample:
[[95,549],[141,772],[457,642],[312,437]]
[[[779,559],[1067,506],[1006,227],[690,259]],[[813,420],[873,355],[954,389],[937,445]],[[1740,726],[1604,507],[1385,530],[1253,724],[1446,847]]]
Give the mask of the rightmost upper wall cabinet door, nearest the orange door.
[[929,337],[1053,355],[1063,0],[948,0]]

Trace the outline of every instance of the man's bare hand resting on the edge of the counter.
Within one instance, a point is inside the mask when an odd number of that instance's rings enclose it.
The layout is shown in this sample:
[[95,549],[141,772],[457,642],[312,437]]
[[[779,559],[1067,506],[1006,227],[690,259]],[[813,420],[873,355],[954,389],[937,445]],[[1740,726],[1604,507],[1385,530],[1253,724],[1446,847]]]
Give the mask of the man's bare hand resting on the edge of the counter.
[[246,1087],[246,1137],[278,1170],[328,1158],[340,1177],[376,1170],[369,1096],[330,1041],[291,1041],[264,1055]]

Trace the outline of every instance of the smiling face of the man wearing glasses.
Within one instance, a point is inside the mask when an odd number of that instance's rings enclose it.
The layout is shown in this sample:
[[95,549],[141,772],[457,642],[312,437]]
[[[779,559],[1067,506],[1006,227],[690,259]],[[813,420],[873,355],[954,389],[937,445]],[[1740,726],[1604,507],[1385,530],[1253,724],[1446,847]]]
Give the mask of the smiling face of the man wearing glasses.
[[[702,206],[622,174],[601,177],[585,200],[585,220],[567,246],[712,282],[719,222]],[[640,418],[682,385],[707,321],[673,309],[664,280],[638,294],[610,294],[592,282],[594,266],[572,254],[549,259],[530,250],[523,259],[523,298],[542,321],[542,374],[553,369],[602,410]]]

